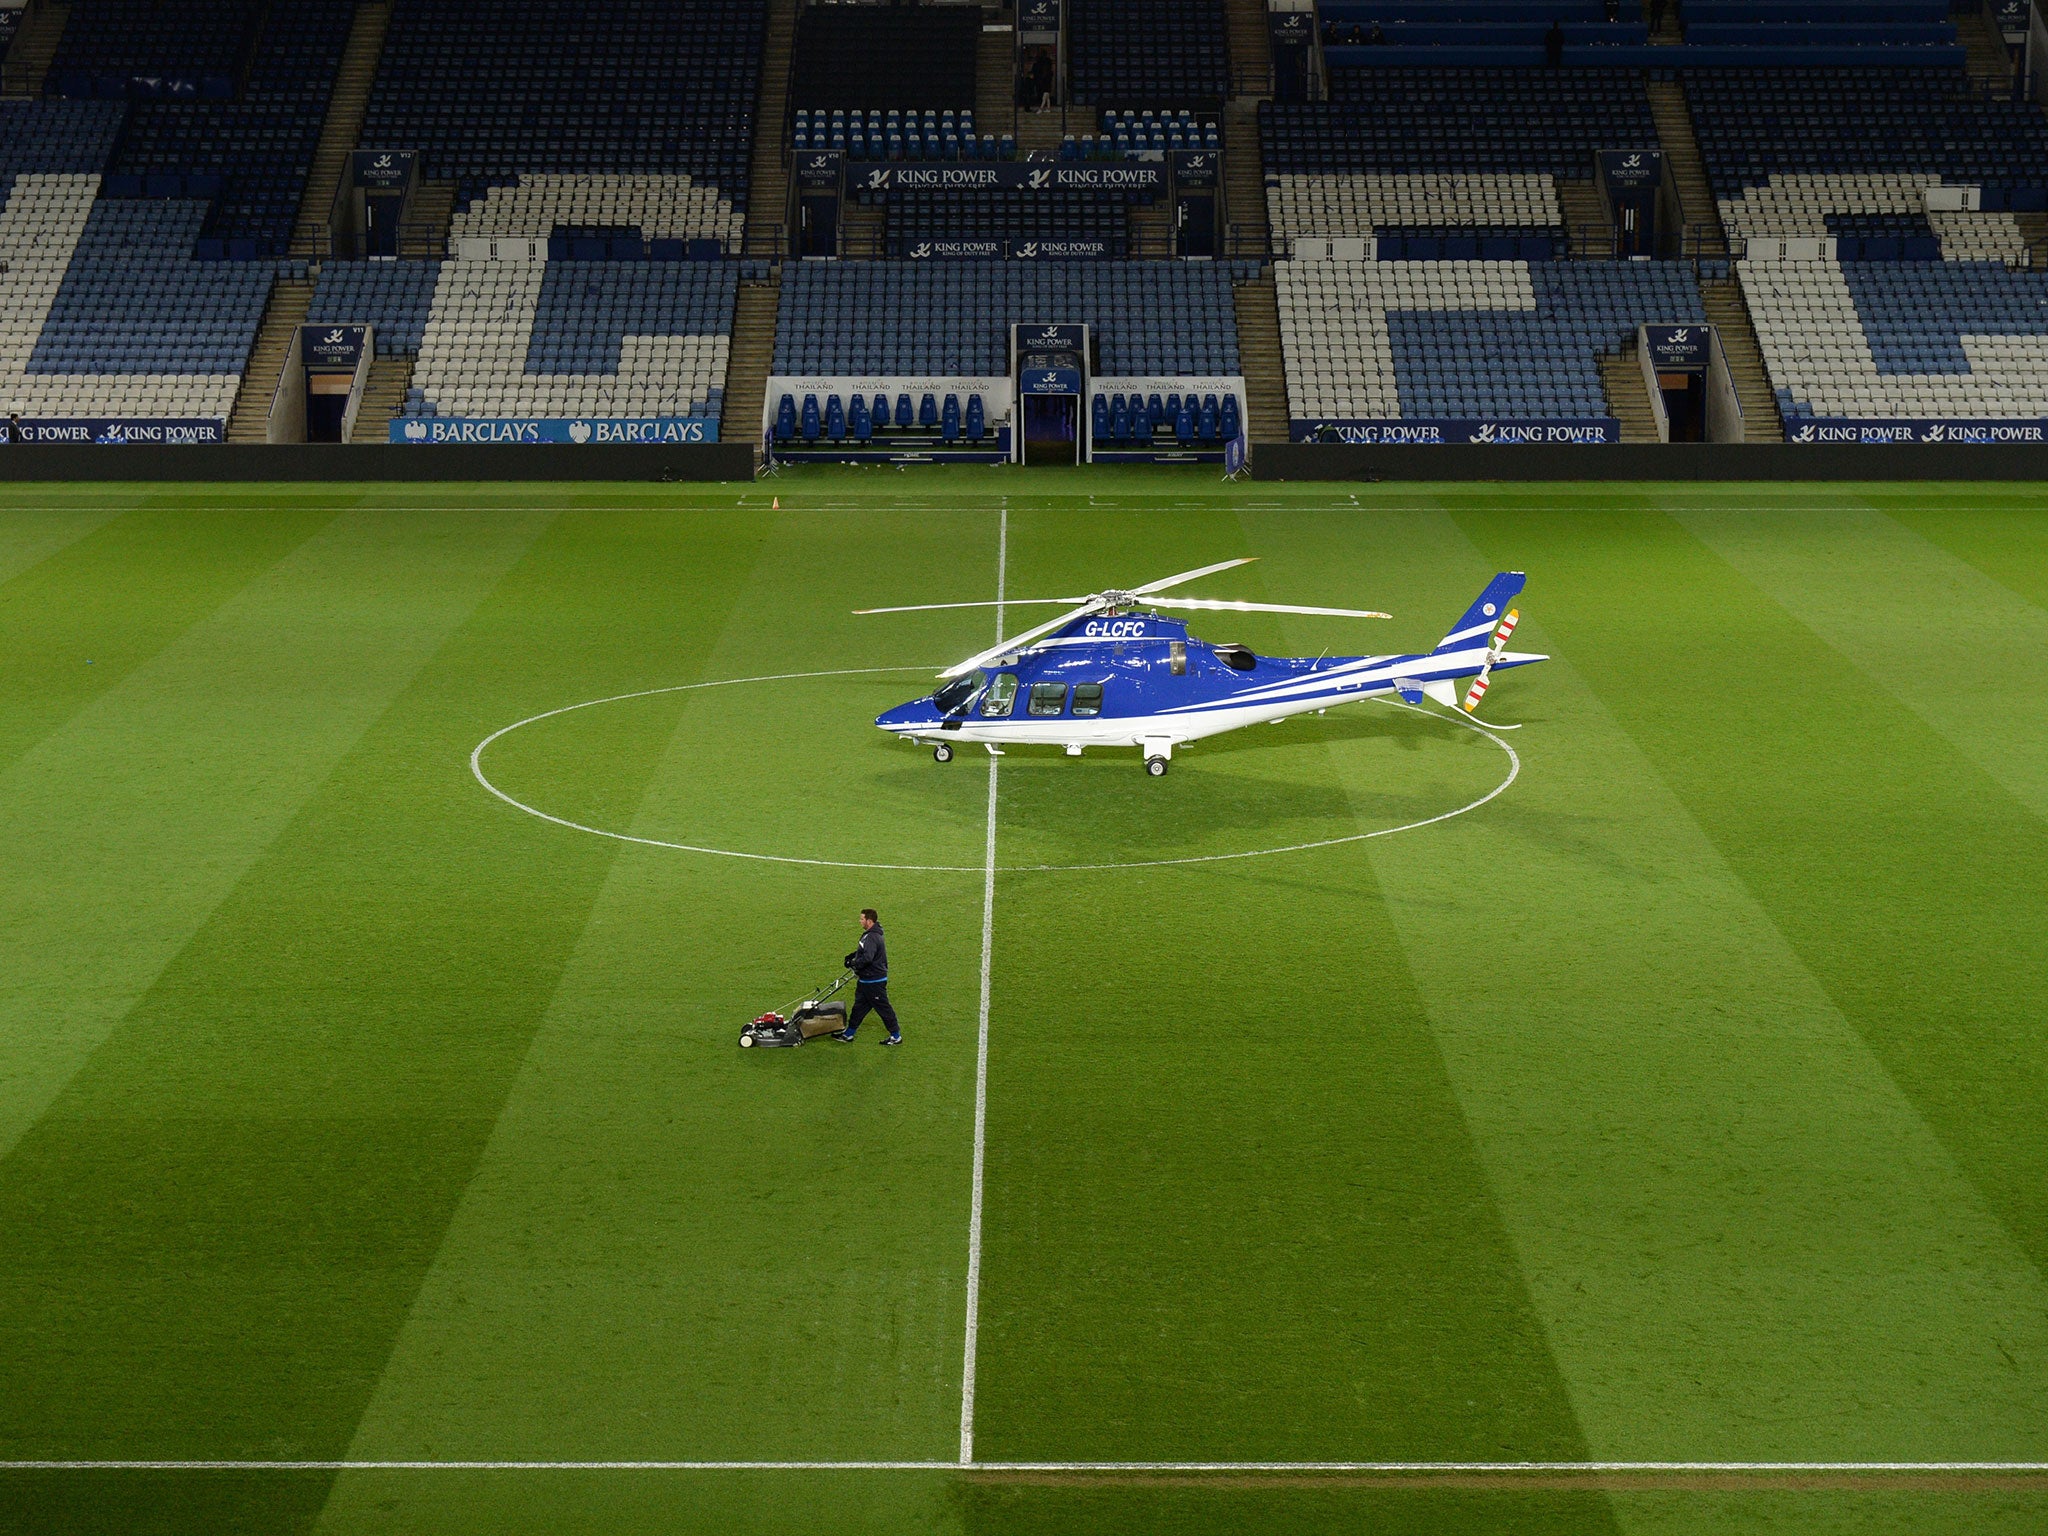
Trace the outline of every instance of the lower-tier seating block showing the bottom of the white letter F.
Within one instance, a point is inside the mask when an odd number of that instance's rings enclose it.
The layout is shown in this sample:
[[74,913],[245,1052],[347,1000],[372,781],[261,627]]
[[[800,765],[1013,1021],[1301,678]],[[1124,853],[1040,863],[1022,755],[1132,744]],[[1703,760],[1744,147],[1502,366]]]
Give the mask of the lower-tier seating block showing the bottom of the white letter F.
[[1294,418],[1608,416],[1599,356],[1704,324],[1681,262],[1282,262]]

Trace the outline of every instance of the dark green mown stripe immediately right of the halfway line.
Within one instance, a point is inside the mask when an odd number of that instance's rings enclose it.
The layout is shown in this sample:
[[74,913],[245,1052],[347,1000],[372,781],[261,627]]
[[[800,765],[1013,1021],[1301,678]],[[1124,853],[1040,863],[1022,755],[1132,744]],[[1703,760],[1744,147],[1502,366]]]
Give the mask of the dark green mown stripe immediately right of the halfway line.
[[[1145,549],[1130,578],[1159,573],[1171,524],[1186,518],[1012,514],[1014,586],[1083,590],[1096,541],[1116,580]],[[1174,545],[1188,563],[1212,545],[1243,553],[1233,520],[1192,532]],[[1118,799],[1202,805],[1204,772],[1257,750],[1255,735],[1192,748],[1165,780],[1128,754],[1014,760],[1004,784],[1044,801],[1036,823],[1065,801],[1069,821],[1102,815],[1114,840]],[[1083,793],[1110,774],[1124,797]],[[1313,774],[1274,793],[1350,819],[1335,770]],[[999,881],[985,1233],[979,1456],[1579,1454],[1356,848]],[[971,1524],[1067,1528],[1137,1507],[989,1489]],[[1253,1493],[1190,1499],[1178,1518],[1225,1530],[1292,1507]],[[1550,1516],[1530,1528],[1608,1524],[1597,1495]]]

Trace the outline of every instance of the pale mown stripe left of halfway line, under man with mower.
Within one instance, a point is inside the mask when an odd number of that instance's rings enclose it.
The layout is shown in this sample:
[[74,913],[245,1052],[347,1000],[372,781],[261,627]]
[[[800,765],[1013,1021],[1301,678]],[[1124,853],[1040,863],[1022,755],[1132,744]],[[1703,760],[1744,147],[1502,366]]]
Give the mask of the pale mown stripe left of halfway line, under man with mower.
[[[731,621],[692,664],[705,676],[936,662],[946,651],[920,635],[930,616],[905,649],[899,627],[850,608],[899,567],[995,584],[983,514],[877,510],[829,539],[782,514],[764,539]],[[860,856],[895,838],[973,868],[985,774],[942,770],[864,725],[918,688],[911,672],[672,694],[659,764],[637,774],[645,795],[614,825],[694,836],[715,815],[758,846]],[[549,752],[602,778],[584,725]],[[522,772],[545,766],[537,750]],[[739,1051],[745,1020],[836,975],[866,905],[889,934],[907,1044],[881,1049],[868,1020],[852,1044]],[[350,1456],[948,1454],[979,928],[973,872],[625,850]],[[408,1509],[416,1495],[430,1524],[440,1495],[408,1489]],[[391,1497],[387,1479],[344,1477],[328,1526],[375,1524]]]

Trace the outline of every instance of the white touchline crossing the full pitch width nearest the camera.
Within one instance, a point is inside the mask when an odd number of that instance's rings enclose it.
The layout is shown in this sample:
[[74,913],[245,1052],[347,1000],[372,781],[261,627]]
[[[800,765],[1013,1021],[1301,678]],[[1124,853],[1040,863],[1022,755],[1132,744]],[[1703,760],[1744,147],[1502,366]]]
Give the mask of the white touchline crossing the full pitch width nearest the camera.
[[0,1460],[0,1473],[2048,1473],[2048,1462]]

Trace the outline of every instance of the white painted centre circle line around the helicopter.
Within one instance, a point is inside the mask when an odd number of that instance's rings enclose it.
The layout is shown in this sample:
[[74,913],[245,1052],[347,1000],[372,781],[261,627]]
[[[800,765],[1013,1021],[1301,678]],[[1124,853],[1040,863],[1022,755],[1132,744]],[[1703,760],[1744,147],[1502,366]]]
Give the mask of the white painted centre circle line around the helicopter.
[[[496,739],[500,739],[504,735],[512,735],[512,731],[518,731],[518,729],[526,727],[526,725],[539,725],[541,721],[551,721],[557,715],[573,715],[580,709],[598,709],[600,705],[623,705],[623,702],[627,702],[631,698],[653,698],[657,694],[694,692],[698,688],[735,688],[735,686],[750,684],[750,682],[805,682],[805,680],[811,680],[811,678],[864,678],[864,676],[870,678],[870,676],[881,676],[881,674],[891,674],[891,672],[928,672],[928,670],[930,668],[922,668],[922,666],[901,666],[901,668],[831,668],[827,672],[770,672],[770,674],[762,674],[762,676],[754,676],[754,678],[713,678],[709,682],[676,682],[676,684],[670,684],[666,688],[637,688],[635,692],[629,692],[629,694],[608,694],[606,698],[586,698],[580,705],[563,705],[559,709],[545,709],[539,715],[528,715],[522,721],[512,721],[510,725],[498,727],[487,737],[483,737],[481,741],[477,741],[475,748],[471,748],[471,752],[469,752],[469,772],[475,774],[475,780],[479,784],[483,784],[483,788],[487,788],[500,801],[504,801],[506,805],[510,805],[514,811],[524,811],[530,817],[539,817],[541,821],[549,821],[549,823],[553,823],[557,827],[567,827],[569,831],[584,831],[584,834],[588,834],[592,838],[610,838],[612,842],[631,842],[631,844],[639,844],[641,848],[670,848],[670,850],[680,852],[680,854],[707,854],[711,858],[750,858],[750,860],[754,860],[758,864],[807,864],[811,868],[874,868],[874,870],[901,870],[901,872],[907,872],[907,874],[983,874],[985,872],[983,864],[872,864],[872,862],[862,862],[862,860],[854,860],[854,858],[803,858],[803,856],[797,856],[797,854],[750,854],[750,852],[743,852],[739,848],[713,848],[709,844],[670,842],[666,838],[641,838],[641,836],[631,834],[631,831],[612,831],[610,827],[592,827],[592,825],[586,825],[582,821],[571,821],[569,817],[553,815],[549,811],[543,811],[537,805],[526,805],[526,801],[520,801],[520,799],[508,795],[506,791],[498,788],[498,784],[494,784],[489,780],[489,776],[483,772],[483,752],[492,745],[492,741],[496,741]],[[1278,846],[1278,848],[1243,848],[1243,850],[1233,852],[1233,854],[1188,854],[1186,858],[1130,858],[1130,860],[1108,862],[1108,864],[997,864],[995,870],[999,874],[1087,874],[1087,872],[1104,872],[1104,870],[1120,870],[1120,868],[1171,868],[1171,866],[1178,866],[1178,864],[1225,864],[1229,860],[1239,860],[1239,858],[1274,858],[1278,854],[1307,854],[1307,852],[1311,852],[1315,848],[1339,848],[1339,846],[1350,844],[1350,842],[1370,842],[1372,838],[1393,838],[1399,831],[1419,831],[1421,827],[1434,827],[1440,821],[1450,821],[1454,817],[1466,815],[1468,811],[1477,811],[1481,805],[1487,805],[1489,801],[1493,801],[1501,793],[1505,793],[1507,786],[1513,784],[1516,778],[1522,776],[1522,758],[1516,754],[1516,750],[1503,737],[1495,735],[1493,731],[1489,731],[1483,723],[1479,723],[1475,719],[1468,719],[1468,717],[1462,717],[1462,715],[1448,715],[1448,713],[1434,711],[1434,709],[1423,709],[1421,705],[1409,705],[1409,702],[1397,700],[1397,698],[1374,698],[1374,700],[1360,700],[1360,702],[1386,702],[1386,705],[1393,705],[1395,709],[1405,709],[1405,711],[1411,711],[1415,715],[1423,715],[1427,719],[1450,721],[1454,725],[1462,725],[1468,731],[1477,731],[1479,735],[1487,737],[1487,741],[1491,741],[1493,745],[1497,745],[1507,756],[1507,774],[1501,778],[1499,784],[1495,784],[1493,788],[1489,788],[1477,801],[1468,801],[1466,805],[1460,805],[1454,811],[1442,811],[1438,815],[1423,817],[1419,821],[1405,821],[1399,827],[1378,827],[1374,831],[1350,831],[1350,834],[1346,834],[1341,838],[1317,838],[1313,842],[1294,842],[1294,844],[1284,844],[1284,846]]]

